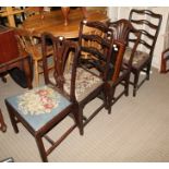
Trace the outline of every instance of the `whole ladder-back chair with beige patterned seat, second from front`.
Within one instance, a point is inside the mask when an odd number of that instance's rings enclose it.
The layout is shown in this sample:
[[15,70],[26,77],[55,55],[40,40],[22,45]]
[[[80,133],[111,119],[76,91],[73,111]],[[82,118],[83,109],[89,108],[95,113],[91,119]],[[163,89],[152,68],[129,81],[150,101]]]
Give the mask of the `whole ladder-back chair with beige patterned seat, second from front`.
[[[112,51],[112,29],[101,22],[82,21],[80,24],[80,56],[75,82],[79,116],[83,128],[107,105],[105,82]],[[86,53],[87,57],[83,55]],[[102,95],[101,104],[85,114],[84,107]]]

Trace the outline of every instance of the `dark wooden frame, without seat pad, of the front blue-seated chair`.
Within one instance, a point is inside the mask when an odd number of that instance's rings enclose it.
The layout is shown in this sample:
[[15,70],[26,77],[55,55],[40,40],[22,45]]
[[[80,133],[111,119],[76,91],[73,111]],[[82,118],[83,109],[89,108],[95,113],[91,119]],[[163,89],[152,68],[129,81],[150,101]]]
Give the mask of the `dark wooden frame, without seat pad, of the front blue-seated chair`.
[[[47,45],[46,45],[46,37],[52,40],[52,46],[53,46],[53,53],[55,53],[55,73],[53,73],[53,77],[56,81],[56,84],[50,83],[49,80],[49,70],[47,69]],[[45,74],[45,83],[46,86],[49,86],[50,88],[52,88],[57,94],[60,95],[60,97],[62,98],[63,102],[67,101],[69,102],[68,106],[64,107],[63,104],[63,108],[60,110],[56,109],[56,112],[53,114],[53,117],[51,117],[47,122],[40,123],[40,125],[38,128],[35,128],[31,122],[28,122],[26,120],[26,117],[23,116],[17,108],[15,107],[15,104],[12,102],[12,98],[16,97],[13,96],[10,98],[5,99],[5,105],[10,114],[10,119],[14,129],[15,133],[19,133],[19,128],[17,128],[17,123],[21,122],[26,130],[35,137],[40,157],[43,161],[48,161],[47,156],[76,128],[80,128],[80,132],[81,132],[81,126],[80,126],[80,121],[79,121],[79,107],[77,104],[75,102],[75,95],[74,95],[74,83],[75,83],[75,73],[76,73],[76,60],[77,60],[77,53],[79,53],[79,46],[73,43],[73,41],[65,41],[65,39],[63,37],[55,37],[51,34],[48,33],[44,33],[43,37],[41,37],[41,41],[43,41],[43,63],[44,63],[44,74]],[[72,65],[72,83],[71,83],[71,92],[70,92],[70,96],[67,95],[67,93],[63,92],[63,84],[64,84],[64,77],[63,77],[63,71],[64,71],[64,67],[65,67],[65,60],[68,58],[68,52],[69,49],[74,50],[75,55],[74,55],[74,60],[73,60],[73,65]],[[16,98],[14,98],[15,100]],[[61,101],[61,100],[60,100]],[[53,110],[52,110],[53,111]],[[59,112],[58,112],[59,111]],[[67,117],[69,117],[70,114],[73,114],[71,117],[73,117],[74,123],[69,126],[69,129],[57,140],[57,141],[52,141],[47,133],[49,131],[51,131],[56,125],[58,125],[62,120],[64,120]],[[36,117],[33,117],[36,118]],[[45,119],[45,117],[43,118]],[[50,144],[51,146],[46,149],[44,142],[43,142],[43,137],[45,137]]]

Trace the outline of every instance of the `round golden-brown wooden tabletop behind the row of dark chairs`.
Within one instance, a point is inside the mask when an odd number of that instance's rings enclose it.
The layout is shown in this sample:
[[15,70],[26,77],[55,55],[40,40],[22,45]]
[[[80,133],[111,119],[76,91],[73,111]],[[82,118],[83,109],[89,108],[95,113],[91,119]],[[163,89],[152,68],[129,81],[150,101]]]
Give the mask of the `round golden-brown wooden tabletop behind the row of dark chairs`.
[[[46,12],[44,19],[41,15],[34,15],[27,17],[23,22],[23,28],[34,32],[33,34],[40,37],[40,34],[48,32],[55,36],[64,36],[65,38],[79,37],[79,25],[83,20],[83,13],[81,9],[71,10],[69,14],[69,24],[64,25],[64,17],[61,10]],[[87,11],[88,21],[108,21],[108,16],[99,11]]]

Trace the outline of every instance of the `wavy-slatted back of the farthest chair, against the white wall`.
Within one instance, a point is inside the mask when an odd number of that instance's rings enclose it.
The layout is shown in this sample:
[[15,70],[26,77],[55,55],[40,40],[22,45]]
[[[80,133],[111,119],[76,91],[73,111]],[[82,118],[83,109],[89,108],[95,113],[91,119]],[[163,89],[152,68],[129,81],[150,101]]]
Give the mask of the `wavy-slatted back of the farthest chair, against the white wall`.
[[129,21],[142,33],[140,45],[142,45],[143,50],[146,51],[152,59],[162,16],[149,10],[132,9]]

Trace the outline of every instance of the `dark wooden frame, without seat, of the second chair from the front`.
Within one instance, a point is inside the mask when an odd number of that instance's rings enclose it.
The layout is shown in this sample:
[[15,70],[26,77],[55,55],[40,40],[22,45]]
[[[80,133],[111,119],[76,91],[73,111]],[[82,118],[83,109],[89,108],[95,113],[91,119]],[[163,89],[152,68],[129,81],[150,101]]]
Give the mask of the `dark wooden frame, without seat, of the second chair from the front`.
[[[85,28],[88,28],[88,33],[84,31]],[[94,29],[96,29],[96,32],[99,31],[100,33],[96,34]],[[92,31],[90,34],[89,31]],[[84,43],[84,40],[89,43]],[[87,45],[85,46],[85,44]],[[93,89],[93,92],[90,92],[83,100],[81,101],[77,100],[79,116],[81,119],[81,123],[84,128],[104,107],[105,108],[107,107],[107,96],[105,90],[106,90],[107,74],[109,71],[109,62],[113,48],[112,29],[108,28],[108,26],[101,22],[90,22],[84,20],[80,24],[79,46],[80,46],[80,57],[79,57],[80,60],[77,69],[82,68],[84,69],[84,71],[88,71],[89,73],[94,74],[94,76],[95,75],[98,76],[104,82],[100,86]],[[90,63],[94,64],[92,65],[93,68],[90,68],[90,70],[86,68],[81,60],[83,58],[84,52],[85,53],[88,52],[89,59],[93,60]],[[102,70],[101,67],[105,69]],[[93,72],[92,71],[93,69],[97,70],[98,74]],[[96,97],[99,98],[100,95],[102,95],[101,97],[102,104],[95,111],[93,111],[88,118],[86,118],[83,112],[84,107]]]

